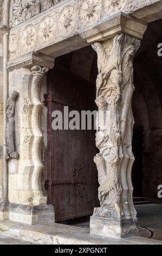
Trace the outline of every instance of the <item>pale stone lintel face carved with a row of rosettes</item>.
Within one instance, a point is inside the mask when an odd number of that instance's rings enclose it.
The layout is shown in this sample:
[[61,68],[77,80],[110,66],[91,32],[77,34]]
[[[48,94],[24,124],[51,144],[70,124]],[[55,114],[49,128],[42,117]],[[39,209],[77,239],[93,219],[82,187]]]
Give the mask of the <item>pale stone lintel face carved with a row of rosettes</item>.
[[[159,4],[157,8],[156,4]],[[98,25],[111,19],[113,15],[120,12],[132,14],[135,10],[142,10],[147,5],[149,7],[152,5],[151,9],[159,11],[160,4],[160,0],[61,1],[47,11],[11,29],[9,36],[10,60],[31,51],[41,51],[43,48],[59,42],[64,44],[64,40],[72,36],[76,38],[76,35],[82,35],[89,28],[96,27],[96,31],[102,33]],[[22,21],[24,21],[23,18]],[[72,40],[75,44],[74,38]],[[47,50],[46,53],[50,54]]]

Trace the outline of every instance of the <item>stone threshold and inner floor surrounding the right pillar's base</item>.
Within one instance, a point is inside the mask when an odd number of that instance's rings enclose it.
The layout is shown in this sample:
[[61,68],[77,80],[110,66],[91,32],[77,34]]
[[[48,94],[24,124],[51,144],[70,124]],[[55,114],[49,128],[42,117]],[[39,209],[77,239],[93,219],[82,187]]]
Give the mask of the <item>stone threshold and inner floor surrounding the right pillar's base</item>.
[[[162,245],[162,205],[137,205],[139,234],[128,239],[106,239],[89,234],[89,222],[73,221],[65,224],[25,225],[0,222],[0,244],[53,245]],[[151,239],[148,237],[152,237]]]

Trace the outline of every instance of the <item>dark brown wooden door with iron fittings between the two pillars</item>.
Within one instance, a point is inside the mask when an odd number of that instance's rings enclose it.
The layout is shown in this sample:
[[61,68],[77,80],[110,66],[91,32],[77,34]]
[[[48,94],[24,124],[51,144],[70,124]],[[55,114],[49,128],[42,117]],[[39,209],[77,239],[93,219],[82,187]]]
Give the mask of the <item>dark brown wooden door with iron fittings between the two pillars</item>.
[[[48,203],[55,220],[63,221],[93,213],[98,206],[98,173],[95,130],[53,130],[53,111],[93,111],[95,86],[62,68],[48,76]],[[64,115],[63,115],[64,117]],[[70,118],[69,118],[70,120]],[[63,122],[64,125],[64,122]]]

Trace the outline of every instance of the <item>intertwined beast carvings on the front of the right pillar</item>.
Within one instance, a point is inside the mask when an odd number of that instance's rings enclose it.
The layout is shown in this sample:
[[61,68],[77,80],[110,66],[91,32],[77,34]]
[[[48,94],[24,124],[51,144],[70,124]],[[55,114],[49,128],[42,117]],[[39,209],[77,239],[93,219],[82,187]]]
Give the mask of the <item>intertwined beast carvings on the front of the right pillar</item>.
[[[101,208],[95,216],[121,218],[121,184],[119,164],[123,157],[133,157],[131,139],[133,115],[133,57],[140,41],[120,33],[106,42],[94,42],[98,54],[99,75],[96,81],[96,105],[99,108],[96,147],[100,153],[94,157],[99,172],[99,200]],[[109,112],[109,123],[106,112]],[[101,114],[100,114],[101,112]],[[129,121],[131,120],[131,121]],[[120,166],[121,169],[121,166]]]

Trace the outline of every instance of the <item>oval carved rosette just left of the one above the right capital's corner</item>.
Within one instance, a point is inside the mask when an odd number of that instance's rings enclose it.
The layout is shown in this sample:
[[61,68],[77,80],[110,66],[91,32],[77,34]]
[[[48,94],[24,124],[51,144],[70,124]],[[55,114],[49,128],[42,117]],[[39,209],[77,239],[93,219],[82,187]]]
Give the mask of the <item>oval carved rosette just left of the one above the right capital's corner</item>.
[[69,35],[76,26],[76,11],[72,5],[67,5],[59,15],[58,27],[63,36]]

